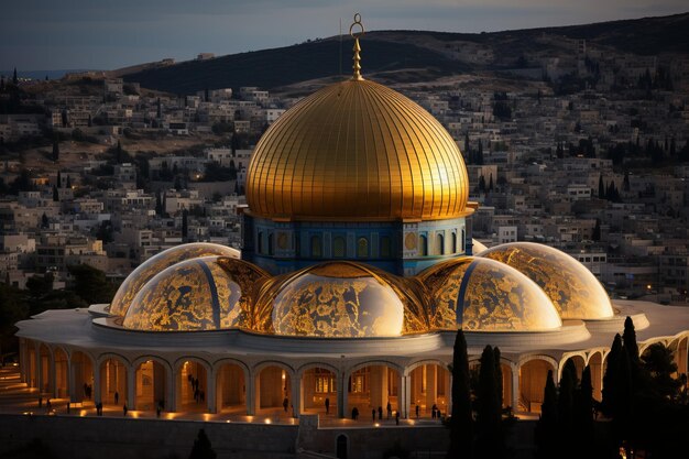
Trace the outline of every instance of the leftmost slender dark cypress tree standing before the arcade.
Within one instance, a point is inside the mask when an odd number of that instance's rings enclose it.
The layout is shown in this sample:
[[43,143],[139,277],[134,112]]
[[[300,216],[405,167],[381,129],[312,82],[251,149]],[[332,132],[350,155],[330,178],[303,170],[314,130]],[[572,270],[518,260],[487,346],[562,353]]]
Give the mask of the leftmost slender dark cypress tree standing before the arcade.
[[452,418],[450,420],[450,449],[448,459],[473,456],[473,417],[469,389],[469,358],[467,340],[459,329],[452,353]]

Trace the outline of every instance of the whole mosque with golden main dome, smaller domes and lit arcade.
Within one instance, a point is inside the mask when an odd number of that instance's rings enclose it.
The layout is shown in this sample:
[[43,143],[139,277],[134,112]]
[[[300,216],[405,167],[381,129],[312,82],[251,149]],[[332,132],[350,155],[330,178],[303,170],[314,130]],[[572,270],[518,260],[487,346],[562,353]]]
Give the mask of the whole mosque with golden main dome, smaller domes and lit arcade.
[[472,241],[457,143],[361,76],[354,39],[353,76],[258,143],[242,250],[182,244],[141,264],[109,305],[19,323],[23,381],[75,403],[86,387],[106,405],[117,394],[139,412],[446,413],[462,328],[472,361],[501,349],[505,405],[520,414],[539,409],[548,370],[559,376],[568,359],[591,367],[600,400],[626,316],[642,352],[664,342],[687,372],[689,310],[611,302],[546,245]]

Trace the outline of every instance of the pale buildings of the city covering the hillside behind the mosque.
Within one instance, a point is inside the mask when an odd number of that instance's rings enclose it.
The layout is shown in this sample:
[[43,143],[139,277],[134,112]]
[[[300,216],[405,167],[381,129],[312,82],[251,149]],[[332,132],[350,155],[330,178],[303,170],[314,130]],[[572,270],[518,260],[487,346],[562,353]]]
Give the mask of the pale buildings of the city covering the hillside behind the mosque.
[[[475,240],[545,242],[614,296],[686,302],[689,59],[568,46],[501,75],[506,90],[396,89],[458,142]],[[298,100],[259,87],[171,95],[99,72],[3,76],[0,280],[61,289],[86,264],[118,284],[182,242],[239,248],[252,150]]]

